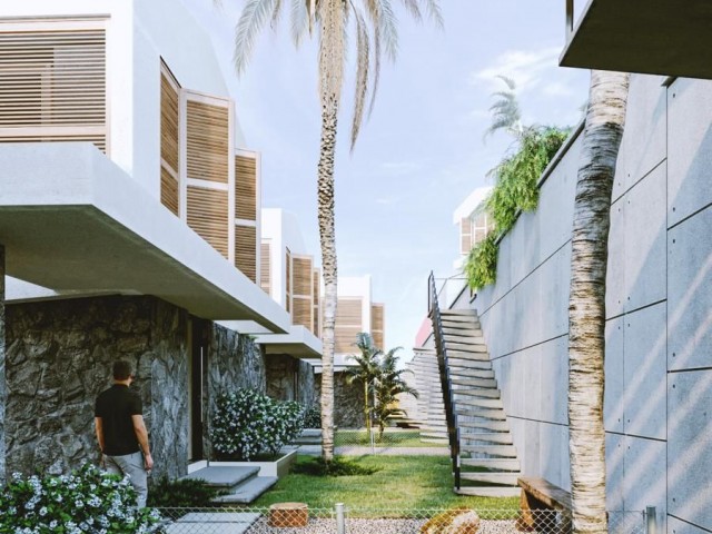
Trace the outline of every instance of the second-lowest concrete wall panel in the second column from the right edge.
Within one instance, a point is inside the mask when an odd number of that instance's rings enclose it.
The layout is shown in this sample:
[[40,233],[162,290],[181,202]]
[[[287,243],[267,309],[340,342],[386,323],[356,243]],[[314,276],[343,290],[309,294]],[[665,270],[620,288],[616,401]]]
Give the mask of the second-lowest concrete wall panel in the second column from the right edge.
[[665,303],[627,314],[624,324],[625,433],[665,439]]

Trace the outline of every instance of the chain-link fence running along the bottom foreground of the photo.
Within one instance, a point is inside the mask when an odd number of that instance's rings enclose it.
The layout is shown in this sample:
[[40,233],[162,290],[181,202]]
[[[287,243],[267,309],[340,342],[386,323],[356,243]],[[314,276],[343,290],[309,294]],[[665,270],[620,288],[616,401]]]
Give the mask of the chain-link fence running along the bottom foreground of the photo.
[[[309,508],[161,508],[161,534],[570,534],[571,518],[550,511]],[[644,512],[609,512],[612,534],[655,534]]]

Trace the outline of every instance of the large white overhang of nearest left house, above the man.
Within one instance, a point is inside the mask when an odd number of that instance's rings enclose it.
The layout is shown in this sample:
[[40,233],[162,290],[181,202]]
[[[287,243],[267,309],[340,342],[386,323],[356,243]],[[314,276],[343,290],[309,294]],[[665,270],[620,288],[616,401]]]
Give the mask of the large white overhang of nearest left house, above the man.
[[0,145],[7,275],[68,294],[154,295],[206,319],[288,314],[88,142]]

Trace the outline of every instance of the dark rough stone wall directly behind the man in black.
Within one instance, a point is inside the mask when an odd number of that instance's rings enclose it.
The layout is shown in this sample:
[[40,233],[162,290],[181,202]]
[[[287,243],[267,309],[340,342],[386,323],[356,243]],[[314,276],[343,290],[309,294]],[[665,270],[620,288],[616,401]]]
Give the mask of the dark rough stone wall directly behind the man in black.
[[187,464],[185,312],[152,297],[7,306],[8,471],[67,473],[96,461],[96,396],[116,359],[136,366],[155,475]]

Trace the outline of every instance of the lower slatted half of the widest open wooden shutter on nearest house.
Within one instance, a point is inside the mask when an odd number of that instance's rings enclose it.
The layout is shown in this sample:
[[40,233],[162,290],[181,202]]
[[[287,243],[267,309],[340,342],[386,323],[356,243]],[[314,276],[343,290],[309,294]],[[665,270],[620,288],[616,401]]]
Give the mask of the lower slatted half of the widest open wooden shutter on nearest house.
[[228,257],[227,191],[188,186],[188,226],[226,258]]

